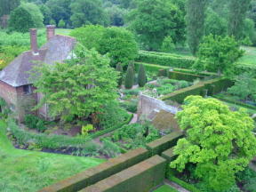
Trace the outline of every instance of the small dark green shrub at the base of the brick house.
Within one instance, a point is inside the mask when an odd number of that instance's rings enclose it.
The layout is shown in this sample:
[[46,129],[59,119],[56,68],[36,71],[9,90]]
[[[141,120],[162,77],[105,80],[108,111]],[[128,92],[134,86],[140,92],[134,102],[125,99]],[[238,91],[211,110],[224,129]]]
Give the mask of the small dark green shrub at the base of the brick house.
[[26,115],[24,118],[24,123],[28,126],[28,128],[36,129],[38,132],[44,132],[47,129],[44,125],[44,120],[34,115]]

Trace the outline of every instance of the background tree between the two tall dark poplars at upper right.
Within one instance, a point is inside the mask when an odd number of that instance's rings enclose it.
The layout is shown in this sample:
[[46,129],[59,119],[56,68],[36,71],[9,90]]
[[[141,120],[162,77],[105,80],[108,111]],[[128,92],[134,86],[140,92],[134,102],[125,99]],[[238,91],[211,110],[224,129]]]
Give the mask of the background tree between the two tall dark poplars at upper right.
[[227,36],[228,33],[227,20],[220,17],[217,12],[208,9],[205,19],[205,36],[210,34],[214,36]]

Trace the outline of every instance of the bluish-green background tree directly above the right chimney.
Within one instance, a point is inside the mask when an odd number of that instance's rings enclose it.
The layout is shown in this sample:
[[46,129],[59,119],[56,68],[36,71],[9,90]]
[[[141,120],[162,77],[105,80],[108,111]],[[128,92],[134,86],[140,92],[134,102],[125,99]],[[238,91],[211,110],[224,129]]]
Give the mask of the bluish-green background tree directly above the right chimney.
[[64,20],[66,25],[70,23],[71,0],[49,0],[46,5],[52,12],[52,20],[55,20],[57,27],[59,27],[60,20]]

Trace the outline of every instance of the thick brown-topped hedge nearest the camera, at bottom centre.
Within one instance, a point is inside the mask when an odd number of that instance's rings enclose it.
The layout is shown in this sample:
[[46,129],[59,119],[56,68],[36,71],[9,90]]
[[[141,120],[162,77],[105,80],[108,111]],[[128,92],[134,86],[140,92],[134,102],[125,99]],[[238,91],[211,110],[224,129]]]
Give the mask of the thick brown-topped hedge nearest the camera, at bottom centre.
[[148,192],[163,183],[166,160],[153,156],[140,164],[118,172],[81,192]]

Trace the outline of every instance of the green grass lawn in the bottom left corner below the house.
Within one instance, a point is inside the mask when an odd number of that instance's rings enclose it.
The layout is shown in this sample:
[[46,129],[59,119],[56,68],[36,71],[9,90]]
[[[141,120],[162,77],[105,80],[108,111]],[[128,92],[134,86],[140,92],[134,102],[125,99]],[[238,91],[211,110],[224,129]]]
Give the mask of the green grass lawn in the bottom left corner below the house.
[[0,120],[0,191],[35,192],[105,160],[20,150],[12,147]]

